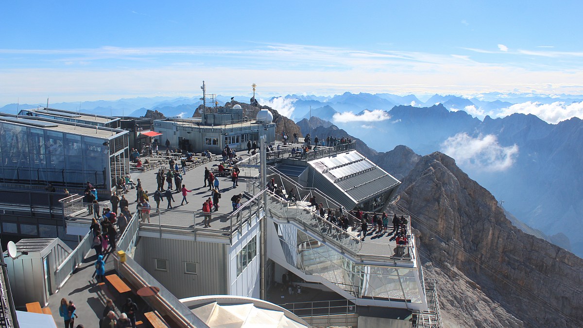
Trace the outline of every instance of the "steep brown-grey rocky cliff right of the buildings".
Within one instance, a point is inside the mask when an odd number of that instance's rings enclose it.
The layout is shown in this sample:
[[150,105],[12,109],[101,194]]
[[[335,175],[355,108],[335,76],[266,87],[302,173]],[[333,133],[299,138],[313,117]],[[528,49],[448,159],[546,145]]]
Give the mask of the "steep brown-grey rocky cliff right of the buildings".
[[423,156],[398,197],[418,218],[420,256],[442,282],[449,326],[522,326],[510,313],[525,326],[581,326],[583,259],[515,228],[454,159]]

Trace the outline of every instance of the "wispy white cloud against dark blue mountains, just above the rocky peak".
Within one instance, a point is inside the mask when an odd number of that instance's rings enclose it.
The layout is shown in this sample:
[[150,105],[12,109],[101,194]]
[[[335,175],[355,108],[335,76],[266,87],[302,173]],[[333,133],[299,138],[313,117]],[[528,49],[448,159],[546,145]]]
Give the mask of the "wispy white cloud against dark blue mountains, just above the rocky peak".
[[445,140],[441,152],[462,167],[498,172],[511,168],[518,156],[518,146],[502,146],[492,134],[472,138],[463,132]]

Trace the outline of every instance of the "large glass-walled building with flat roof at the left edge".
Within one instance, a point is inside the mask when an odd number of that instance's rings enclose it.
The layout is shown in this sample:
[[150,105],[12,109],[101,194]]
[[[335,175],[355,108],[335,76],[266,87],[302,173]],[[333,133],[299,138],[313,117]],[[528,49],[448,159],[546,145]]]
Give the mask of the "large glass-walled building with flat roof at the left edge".
[[128,132],[48,118],[0,114],[0,183],[109,194],[129,173]]

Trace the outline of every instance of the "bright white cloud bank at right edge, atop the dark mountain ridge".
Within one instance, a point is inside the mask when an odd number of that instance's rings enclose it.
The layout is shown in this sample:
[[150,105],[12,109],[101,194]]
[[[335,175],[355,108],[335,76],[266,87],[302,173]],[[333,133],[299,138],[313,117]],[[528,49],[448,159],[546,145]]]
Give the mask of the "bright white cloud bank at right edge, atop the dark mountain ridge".
[[514,113],[533,114],[547,123],[557,124],[560,121],[568,120],[572,117],[583,118],[583,102],[554,102],[550,104],[539,102],[518,103],[502,109],[497,116],[505,117]]

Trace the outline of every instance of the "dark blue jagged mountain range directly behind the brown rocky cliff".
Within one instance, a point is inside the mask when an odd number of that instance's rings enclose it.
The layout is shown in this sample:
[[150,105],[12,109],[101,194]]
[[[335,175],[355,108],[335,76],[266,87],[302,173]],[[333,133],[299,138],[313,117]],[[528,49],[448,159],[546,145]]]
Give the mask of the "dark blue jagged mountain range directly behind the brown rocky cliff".
[[582,120],[549,124],[512,114],[481,121],[443,104],[395,106],[387,113],[389,120],[336,128],[377,151],[407,145],[420,154],[447,153],[520,221],[566,248],[567,236],[571,250],[583,255]]

